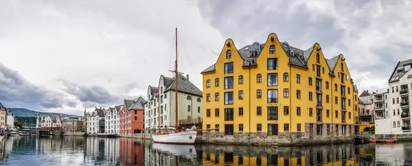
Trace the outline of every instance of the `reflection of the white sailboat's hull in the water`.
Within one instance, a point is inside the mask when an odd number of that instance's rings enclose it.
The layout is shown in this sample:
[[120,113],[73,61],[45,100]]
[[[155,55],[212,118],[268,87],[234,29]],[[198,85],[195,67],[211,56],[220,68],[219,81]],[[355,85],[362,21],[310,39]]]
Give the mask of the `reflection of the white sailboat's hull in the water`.
[[185,156],[185,158],[196,158],[196,149],[192,145],[173,145],[153,143],[152,148],[160,152],[168,152],[173,156]]

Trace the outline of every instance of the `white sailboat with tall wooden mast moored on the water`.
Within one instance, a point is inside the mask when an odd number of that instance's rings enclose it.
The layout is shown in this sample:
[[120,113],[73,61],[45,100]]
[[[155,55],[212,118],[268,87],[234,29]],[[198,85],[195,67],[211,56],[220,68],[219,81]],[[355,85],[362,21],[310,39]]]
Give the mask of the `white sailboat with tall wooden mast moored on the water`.
[[[182,132],[179,132],[179,128],[178,128],[178,113],[177,113],[177,79],[178,79],[178,70],[177,70],[177,28],[176,28],[176,59],[174,61],[174,70],[172,71],[175,74],[175,81],[176,83],[174,85],[176,85],[176,127],[174,129],[174,132],[170,132],[170,133],[161,133],[159,130],[159,133],[157,133],[156,135],[152,135],[152,139],[155,143],[165,143],[165,144],[183,144],[183,145],[192,145],[194,144],[194,140],[196,139],[196,135],[197,135],[197,131],[196,128],[192,128],[190,130],[185,130]],[[159,109],[158,109],[159,111]],[[160,113],[158,113],[158,115],[160,116]],[[160,119],[160,117],[159,117]],[[160,126],[160,121],[159,122],[159,126]]]

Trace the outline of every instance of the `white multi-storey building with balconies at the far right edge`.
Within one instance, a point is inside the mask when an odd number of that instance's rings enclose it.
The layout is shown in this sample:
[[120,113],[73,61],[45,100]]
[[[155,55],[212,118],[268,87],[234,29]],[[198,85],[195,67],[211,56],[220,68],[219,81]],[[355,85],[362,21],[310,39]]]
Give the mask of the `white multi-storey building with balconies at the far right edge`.
[[389,79],[388,113],[376,120],[376,135],[402,135],[411,132],[412,59],[399,61]]

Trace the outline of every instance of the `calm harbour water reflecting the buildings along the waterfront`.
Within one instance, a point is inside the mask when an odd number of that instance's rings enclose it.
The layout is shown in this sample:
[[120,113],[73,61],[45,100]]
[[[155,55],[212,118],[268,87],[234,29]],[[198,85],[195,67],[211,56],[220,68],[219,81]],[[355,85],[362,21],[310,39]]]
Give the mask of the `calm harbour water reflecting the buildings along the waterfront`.
[[3,165],[412,165],[412,143],[268,148],[16,136],[0,149]]

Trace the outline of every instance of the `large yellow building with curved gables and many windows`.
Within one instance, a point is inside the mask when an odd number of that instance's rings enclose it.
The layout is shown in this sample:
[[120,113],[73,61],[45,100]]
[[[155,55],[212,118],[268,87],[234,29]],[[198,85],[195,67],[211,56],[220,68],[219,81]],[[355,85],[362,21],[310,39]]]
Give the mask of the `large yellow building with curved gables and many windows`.
[[[290,138],[353,136],[358,101],[345,57],[325,59],[279,42],[237,49],[231,39],[203,72],[203,128],[213,135]],[[353,139],[353,137],[352,137]]]

